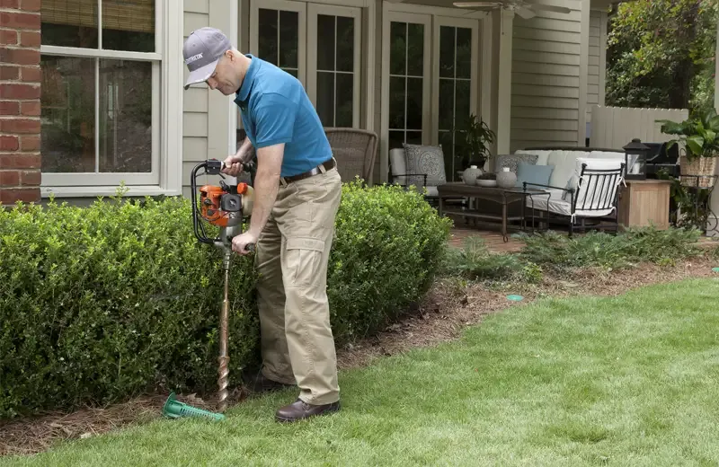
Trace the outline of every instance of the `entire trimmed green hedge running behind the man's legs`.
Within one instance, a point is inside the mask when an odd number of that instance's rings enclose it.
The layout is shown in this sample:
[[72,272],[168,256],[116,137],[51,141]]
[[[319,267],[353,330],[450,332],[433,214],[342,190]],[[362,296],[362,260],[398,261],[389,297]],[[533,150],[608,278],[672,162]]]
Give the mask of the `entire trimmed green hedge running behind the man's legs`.
[[[338,343],[420,298],[449,221],[415,191],[345,184],[328,273]],[[159,387],[214,392],[220,251],[186,198],[0,209],[0,418],[120,401]],[[230,371],[256,363],[252,257],[231,274]]]

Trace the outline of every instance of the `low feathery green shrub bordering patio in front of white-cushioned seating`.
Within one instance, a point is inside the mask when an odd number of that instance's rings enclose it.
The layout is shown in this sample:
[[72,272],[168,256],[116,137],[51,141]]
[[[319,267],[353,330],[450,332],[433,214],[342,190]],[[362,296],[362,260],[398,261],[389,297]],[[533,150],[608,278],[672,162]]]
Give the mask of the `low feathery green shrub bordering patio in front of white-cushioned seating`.
[[556,271],[599,267],[622,269],[639,262],[666,263],[696,256],[699,231],[635,227],[614,235],[590,232],[569,238],[566,234],[523,235],[524,260]]

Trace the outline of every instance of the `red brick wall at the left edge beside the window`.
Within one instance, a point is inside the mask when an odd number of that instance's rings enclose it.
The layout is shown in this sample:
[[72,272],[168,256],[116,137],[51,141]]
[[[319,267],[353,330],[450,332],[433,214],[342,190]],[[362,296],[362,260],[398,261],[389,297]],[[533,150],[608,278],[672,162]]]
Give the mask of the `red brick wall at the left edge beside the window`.
[[40,0],[0,0],[0,205],[40,200]]

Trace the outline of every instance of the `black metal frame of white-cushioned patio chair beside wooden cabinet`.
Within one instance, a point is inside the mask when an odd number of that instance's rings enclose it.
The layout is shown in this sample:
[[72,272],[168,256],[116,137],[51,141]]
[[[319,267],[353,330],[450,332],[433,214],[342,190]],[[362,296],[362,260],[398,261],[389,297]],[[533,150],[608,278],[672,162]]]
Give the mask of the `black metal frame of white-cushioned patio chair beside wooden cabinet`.
[[[576,230],[577,221],[581,221],[579,224],[581,225],[581,232],[584,233],[587,231],[587,219],[590,219],[592,221],[596,221],[594,225],[590,225],[589,228],[596,228],[598,230],[608,230],[608,228],[613,227],[614,233],[617,234],[619,231],[619,189],[618,189],[618,183],[617,181],[622,181],[623,173],[624,173],[624,163],[621,163],[620,167],[618,169],[608,169],[608,170],[600,170],[600,169],[587,169],[587,164],[582,163],[581,164],[581,172],[579,177],[579,184],[580,186],[577,189],[566,189],[562,187],[554,187],[551,185],[542,185],[538,183],[523,183],[523,188],[526,191],[528,187],[538,187],[540,189],[560,189],[562,191],[565,191],[569,193],[570,196],[570,205],[572,207],[571,212],[569,215],[554,213],[549,210],[549,198],[551,197],[551,194],[547,193],[547,207],[545,209],[538,209],[537,207],[533,207],[533,210],[538,210],[541,213],[546,213],[546,217],[542,217],[539,221],[540,223],[545,223],[547,226],[547,229],[549,227],[550,221],[554,221],[555,224],[560,225],[568,225],[569,226],[569,236],[573,236],[574,231]],[[577,191],[581,186],[586,186],[588,189],[591,187],[591,181],[596,181],[594,184],[594,187],[591,192],[587,191],[587,193],[584,195],[584,198],[581,201],[581,205],[577,206]],[[606,196],[604,199],[600,199],[601,193],[604,191],[605,188],[608,188],[610,192],[608,193],[609,196]],[[545,196],[545,195],[535,195],[537,197]],[[592,204],[596,200],[598,201],[598,206],[592,207]],[[589,203],[588,203],[589,200]],[[607,216],[577,216],[576,212],[577,210],[580,211],[606,211],[607,209],[613,209],[613,214],[609,214]],[[568,217],[568,219],[567,219]],[[532,215],[532,224],[534,225],[534,215]],[[603,222],[604,221],[604,222]],[[610,221],[607,223],[607,221]],[[612,222],[613,221],[613,222]]]

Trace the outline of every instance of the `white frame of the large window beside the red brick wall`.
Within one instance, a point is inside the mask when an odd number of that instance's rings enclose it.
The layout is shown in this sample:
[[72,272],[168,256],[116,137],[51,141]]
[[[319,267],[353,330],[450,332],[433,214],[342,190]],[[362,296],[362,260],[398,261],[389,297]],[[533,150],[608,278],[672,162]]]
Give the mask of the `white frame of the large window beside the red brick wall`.
[[[125,58],[153,62],[152,172],[73,172],[42,173],[41,194],[49,197],[108,196],[120,183],[128,195],[182,194],[182,8],[173,0],[155,4],[155,52],[102,49],[102,22],[99,22],[99,48],[40,46],[40,54],[64,57]],[[102,3],[98,8],[102,18]],[[97,66],[97,65],[96,65]],[[95,74],[95,135],[99,128],[99,85]],[[95,137],[98,157],[100,140]],[[97,171],[97,162],[96,162]]]

